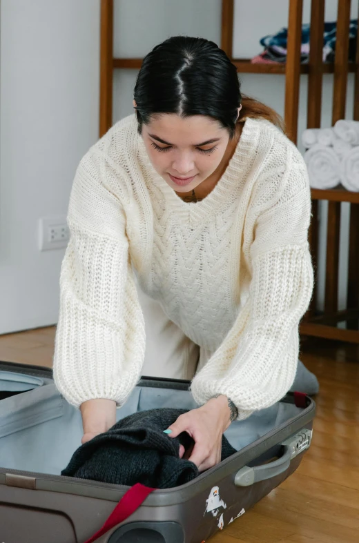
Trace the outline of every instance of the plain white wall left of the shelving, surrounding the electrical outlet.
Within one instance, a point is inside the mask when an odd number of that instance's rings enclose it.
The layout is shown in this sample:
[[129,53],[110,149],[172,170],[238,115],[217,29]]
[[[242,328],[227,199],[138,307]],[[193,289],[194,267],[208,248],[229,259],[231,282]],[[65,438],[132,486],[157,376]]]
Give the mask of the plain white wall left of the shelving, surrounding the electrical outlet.
[[98,137],[99,0],[2,0],[0,333],[57,322],[64,249],[40,252],[39,217],[66,215]]

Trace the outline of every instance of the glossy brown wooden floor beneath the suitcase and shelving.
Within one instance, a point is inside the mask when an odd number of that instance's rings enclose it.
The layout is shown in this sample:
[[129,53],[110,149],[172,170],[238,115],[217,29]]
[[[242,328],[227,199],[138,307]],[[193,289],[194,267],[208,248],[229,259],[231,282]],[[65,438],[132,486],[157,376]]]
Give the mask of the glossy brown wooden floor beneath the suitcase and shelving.
[[[51,366],[55,328],[0,336],[0,360]],[[213,543],[359,543],[359,352],[309,340],[320,380],[313,444],[294,475]]]

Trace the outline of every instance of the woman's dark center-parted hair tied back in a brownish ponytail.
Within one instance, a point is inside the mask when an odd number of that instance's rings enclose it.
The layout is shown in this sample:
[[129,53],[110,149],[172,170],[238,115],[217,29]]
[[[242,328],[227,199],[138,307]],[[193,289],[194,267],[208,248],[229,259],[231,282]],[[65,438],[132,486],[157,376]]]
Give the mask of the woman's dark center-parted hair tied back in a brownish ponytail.
[[213,41],[175,36],[153,48],[139,70],[134,98],[138,131],[151,116],[176,113],[182,117],[206,115],[235,135],[238,121],[264,118],[284,130],[284,121],[273,109],[241,95],[237,68]]

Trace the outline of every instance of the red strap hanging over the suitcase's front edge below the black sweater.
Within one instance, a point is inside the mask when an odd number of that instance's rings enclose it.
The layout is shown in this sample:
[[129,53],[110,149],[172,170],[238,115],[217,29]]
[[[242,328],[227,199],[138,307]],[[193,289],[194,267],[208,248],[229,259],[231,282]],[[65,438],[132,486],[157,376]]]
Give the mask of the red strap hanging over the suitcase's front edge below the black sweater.
[[150,488],[149,486],[144,486],[144,484],[141,483],[136,483],[131,486],[126,494],[122,496],[121,500],[119,500],[117,506],[106,520],[104,526],[102,526],[102,528],[99,529],[99,531],[96,532],[93,537],[90,537],[90,539],[85,543],[95,542],[99,537],[101,537],[101,535],[104,535],[104,533],[113,528],[113,526],[123,522],[126,518],[132,515],[136,509],[139,508],[142,502],[146,500],[148,494],[151,494],[151,492],[154,490],[157,490],[157,488]]

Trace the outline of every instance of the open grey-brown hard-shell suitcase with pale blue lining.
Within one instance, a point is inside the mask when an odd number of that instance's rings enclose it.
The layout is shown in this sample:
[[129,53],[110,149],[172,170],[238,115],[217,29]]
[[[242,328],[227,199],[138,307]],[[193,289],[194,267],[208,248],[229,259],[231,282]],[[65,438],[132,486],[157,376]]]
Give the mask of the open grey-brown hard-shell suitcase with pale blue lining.
[[[117,420],[153,408],[193,409],[189,384],[142,377]],[[84,543],[129,487],[61,476],[81,444],[81,413],[59,395],[50,369],[0,363],[1,391],[0,540]],[[309,397],[289,394],[233,422],[224,435],[237,453],[186,484],[151,492],[97,543],[208,540],[295,471],[314,413]]]

